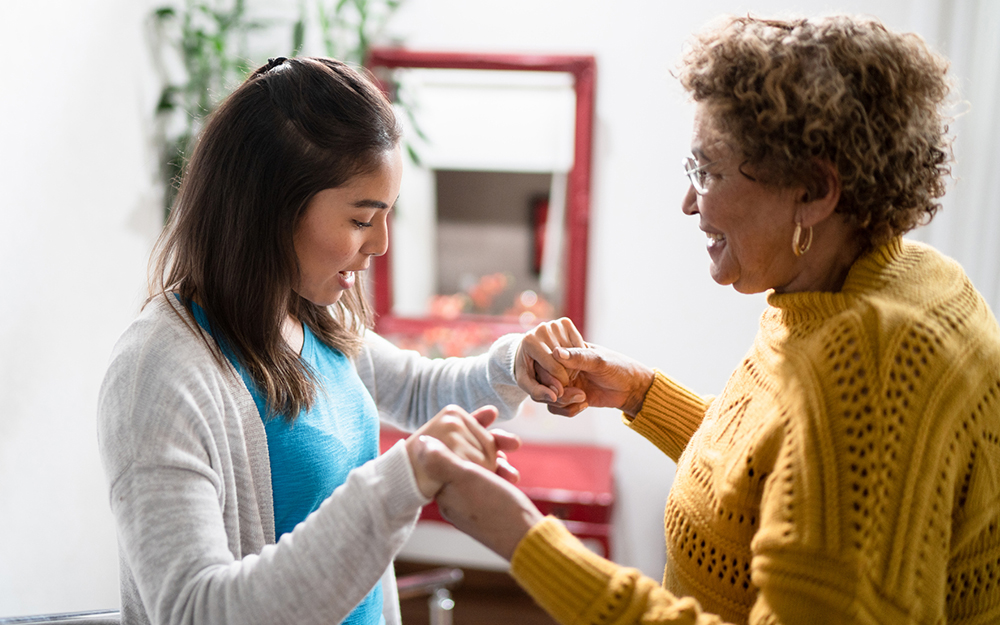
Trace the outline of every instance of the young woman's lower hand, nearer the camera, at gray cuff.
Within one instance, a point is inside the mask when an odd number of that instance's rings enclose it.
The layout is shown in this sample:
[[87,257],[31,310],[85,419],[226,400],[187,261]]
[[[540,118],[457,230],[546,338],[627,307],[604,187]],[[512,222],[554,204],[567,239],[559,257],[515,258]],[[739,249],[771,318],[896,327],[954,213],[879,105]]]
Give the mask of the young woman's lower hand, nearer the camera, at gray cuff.
[[[503,430],[486,428],[497,418],[494,406],[483,406],[471,414],[459,406],[447,406],[406,439],[406,451],[425,497],[434,497],[444,485],[427,470],[427,462],[439,447],[459,460],[483,467],[504,480],[516,482],[517,470],[507,462],[505,452],[521,446],[521,439]],[[428,447],[430,441],[437,443]]]

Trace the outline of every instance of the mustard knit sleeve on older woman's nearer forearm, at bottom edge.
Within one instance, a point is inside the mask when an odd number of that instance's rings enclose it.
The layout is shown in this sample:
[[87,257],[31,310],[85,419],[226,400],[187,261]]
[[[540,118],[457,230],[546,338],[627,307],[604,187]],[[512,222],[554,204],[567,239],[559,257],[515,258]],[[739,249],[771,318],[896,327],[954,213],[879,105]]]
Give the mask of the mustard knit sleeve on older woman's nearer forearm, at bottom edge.
[[675,597],[636,569],[591,552],[553,517],[536,524],[520,542],[511,575],[567,625],[722,623],[694,599]]

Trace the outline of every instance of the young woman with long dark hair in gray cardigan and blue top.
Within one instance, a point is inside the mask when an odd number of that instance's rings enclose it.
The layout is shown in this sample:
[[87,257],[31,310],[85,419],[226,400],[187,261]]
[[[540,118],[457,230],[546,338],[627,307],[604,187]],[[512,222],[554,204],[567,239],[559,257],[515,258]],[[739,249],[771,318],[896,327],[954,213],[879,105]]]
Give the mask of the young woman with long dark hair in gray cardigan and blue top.
[[[555,399],[527,363],[582,340],[553,322],[432,361],[368,331],[357,273],[400,170],[391,106],[337,61],[272,60],[212,115],[101,390],[123,622],[398,622],[427,462],[515,478],[485,426]],[[419,429],[378,456],[380,416]]]

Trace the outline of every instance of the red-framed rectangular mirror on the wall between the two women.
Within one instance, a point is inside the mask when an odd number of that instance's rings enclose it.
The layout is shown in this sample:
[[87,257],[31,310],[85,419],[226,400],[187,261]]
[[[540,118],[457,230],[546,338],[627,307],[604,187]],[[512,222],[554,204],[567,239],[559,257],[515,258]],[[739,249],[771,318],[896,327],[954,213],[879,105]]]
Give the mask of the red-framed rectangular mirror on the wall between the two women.
[[[520,71],[520,57],[409,53],[423,56],[399,60],[407,54],[376,51],[374,59],[415,156],[404,163],[389,258],[377,261],[378,331],[449,356],[477,353],[501,333],[561,315],[582,325],[585,268],[568,279],[571,249],[586,259],[589,163],[586,171],[574,165],[579,59],[552,57],[558,63],[544,71]],[[582,66],[592,83],[593,60]],[[589,115],[586,121],[589,160]],[[583,218],[575,237],[572,181],[584,188],[576,194]]]

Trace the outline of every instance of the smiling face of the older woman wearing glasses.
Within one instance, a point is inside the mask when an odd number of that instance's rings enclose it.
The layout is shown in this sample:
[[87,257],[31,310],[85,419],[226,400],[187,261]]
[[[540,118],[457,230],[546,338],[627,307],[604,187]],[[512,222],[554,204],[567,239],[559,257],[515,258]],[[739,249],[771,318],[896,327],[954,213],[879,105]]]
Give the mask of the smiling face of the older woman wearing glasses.
[[801,190],[752,180],[753,172],[723,140],[703,104],[695,112],[691,152],[704,166],[705,193],[689,187],[683,209],[698,215],[708,236],[712,279],[741,293],[782,290],[796,274],[791,242]]

